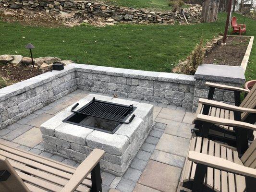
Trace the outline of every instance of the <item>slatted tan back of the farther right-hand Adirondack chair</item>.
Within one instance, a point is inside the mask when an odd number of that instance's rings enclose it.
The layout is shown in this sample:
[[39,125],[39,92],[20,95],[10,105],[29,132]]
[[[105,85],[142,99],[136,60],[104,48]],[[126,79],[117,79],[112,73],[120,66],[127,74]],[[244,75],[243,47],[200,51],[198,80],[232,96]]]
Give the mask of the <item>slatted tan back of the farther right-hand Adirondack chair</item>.
[[[256,108],[256,84],[254,84],[251,91],[244,98],[240,107],[242,107],[242,108]],[[248,115],[249,115],[249,113],[243,113],[242,114],[242,120],[244,120]]]

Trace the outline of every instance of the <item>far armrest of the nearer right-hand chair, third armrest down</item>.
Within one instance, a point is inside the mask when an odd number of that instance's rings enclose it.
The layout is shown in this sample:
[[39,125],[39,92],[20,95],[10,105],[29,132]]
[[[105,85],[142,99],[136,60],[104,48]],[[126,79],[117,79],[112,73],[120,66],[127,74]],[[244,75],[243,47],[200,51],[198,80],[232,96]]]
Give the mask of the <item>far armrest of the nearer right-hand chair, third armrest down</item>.
[[226,126],[231,126],[231,127],[245,128],[245,129],[250,129],[250,130],[256,131],[256,125],[253,125],[250,123],[245,123],[242,121],[237,121],[237,120],[228,120],[228,119],[212,117],[212,116],[202,115],[202,114],[197,114],[197,117],[195,118],[195,120],[214,123],[214,124],[218,124],[218,125],[226,125]]

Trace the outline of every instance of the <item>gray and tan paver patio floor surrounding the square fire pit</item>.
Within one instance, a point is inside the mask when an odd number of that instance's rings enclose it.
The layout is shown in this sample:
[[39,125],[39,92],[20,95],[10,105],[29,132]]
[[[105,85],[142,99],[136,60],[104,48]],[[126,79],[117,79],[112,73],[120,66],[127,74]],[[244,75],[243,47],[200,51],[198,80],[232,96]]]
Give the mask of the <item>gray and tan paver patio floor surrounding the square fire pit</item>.
[[[44,151],[38,128],[67,106],[91,93],[77,89],[9,125],[0,130],[0,143],[78,167],[80,164],[71,159]],[[173,105],[151,104],[154,105],[155,121],[152,131],[123,177],[102,172],[103,192],[176,192],[191,138],[190,130],[194,128],[192,120],[195,114]]]

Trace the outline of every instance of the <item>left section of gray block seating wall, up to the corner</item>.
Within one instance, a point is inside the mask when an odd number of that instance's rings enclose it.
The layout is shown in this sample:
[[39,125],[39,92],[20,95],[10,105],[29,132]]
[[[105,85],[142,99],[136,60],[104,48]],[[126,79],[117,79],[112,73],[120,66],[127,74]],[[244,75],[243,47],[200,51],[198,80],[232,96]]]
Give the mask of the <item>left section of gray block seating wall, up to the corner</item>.
[[0,89],[0,130],[77,89],[74,67]]

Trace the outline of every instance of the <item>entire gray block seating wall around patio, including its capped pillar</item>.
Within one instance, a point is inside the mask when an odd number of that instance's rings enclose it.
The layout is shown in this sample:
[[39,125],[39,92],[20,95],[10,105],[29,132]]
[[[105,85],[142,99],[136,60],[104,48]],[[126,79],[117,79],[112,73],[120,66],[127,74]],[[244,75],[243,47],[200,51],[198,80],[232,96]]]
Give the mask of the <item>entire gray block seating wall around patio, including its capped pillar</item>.
[[[69,64],[0,89],[0,129],[74,91],[130,97],[196,110],[198,98],[207,98],[205,82],[244,84],[241,67],[202,64],[195,75]],[[232,92],[216,90],[215,100],[233,104]]]

